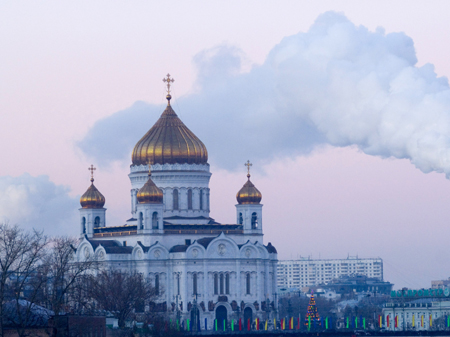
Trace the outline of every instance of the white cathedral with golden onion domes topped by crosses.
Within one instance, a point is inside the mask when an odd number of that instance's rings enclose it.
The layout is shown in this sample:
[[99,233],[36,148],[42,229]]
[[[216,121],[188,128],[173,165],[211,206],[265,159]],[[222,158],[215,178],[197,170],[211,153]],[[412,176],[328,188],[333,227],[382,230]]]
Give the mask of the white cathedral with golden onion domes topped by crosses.
[[[277,251],[263,241],[262,194],[250,180],[237,192],[236,223],[210,217],[211,172],[202,141],[170,105],[131,155],[131,218],[108,226],[105,197],[91,185],[80,199],[76,258],[143,273],[157,298],[149,310],[219,326],[271,319],[277,310]],[[91,166],[91,173],[94,168]],[[194,324],[194,323],[191,323]],[[196,326],[196,325],[192,325]]]

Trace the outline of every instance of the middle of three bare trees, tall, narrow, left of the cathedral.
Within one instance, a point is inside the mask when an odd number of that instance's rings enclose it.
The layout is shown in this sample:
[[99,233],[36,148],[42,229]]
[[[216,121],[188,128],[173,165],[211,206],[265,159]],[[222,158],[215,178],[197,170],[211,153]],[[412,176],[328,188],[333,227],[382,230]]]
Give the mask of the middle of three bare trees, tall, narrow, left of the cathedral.
[[96,269],[94,256],[77,262],[75,261],[76,239],[69,237],[57,237],[51,240],[51,249],[47,254],[45,265],[47,266],[47,297],[49,307],[55,315],[67,312],[69,307],[78,305],[70,303],[74,299],[74,293],[87,272]]

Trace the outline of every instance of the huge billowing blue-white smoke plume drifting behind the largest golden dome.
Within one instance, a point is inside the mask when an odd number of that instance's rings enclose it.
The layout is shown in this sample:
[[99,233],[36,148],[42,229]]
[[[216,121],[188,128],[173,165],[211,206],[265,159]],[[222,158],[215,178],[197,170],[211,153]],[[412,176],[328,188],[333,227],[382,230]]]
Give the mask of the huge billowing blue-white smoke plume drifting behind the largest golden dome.
[[[262,65],[243,72],[242,60],[232,46],[199,53],[195,92],[173,104],[216,165],[296,156],[328,143],[450,175],[448,81],[430,64],[416,66],[405,34],[370,32],[327,12],[307,32],[284,38]],[[140,103],[100,120],[80,147],[100,164],[129,162],[163,108]]]

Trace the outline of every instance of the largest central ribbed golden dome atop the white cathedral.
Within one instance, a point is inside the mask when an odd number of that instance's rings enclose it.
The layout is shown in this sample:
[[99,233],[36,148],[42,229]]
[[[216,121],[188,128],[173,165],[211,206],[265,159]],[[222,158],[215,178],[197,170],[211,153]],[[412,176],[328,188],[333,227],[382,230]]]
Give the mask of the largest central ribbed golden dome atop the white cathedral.
[[150,164],[206,164],[205,145],[178,118],[170,106],[153,127],[137,142],[131,157],[133,165]]

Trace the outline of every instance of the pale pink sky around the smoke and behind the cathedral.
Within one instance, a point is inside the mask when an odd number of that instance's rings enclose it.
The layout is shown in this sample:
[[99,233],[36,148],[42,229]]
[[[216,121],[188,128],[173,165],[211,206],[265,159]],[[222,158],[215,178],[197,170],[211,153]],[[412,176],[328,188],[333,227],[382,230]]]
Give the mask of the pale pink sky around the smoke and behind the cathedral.
[[[202,50],[225,43],[245,53],[244,70],[261,64],[284,37],[307,31],[329,10],[371,31],[404,32],[414,41],[419,66],[431,63],[439,76],[450,74],[446,1],[3,1],[0,176],[48,175],[78,197],[89,183],[87,167],[97,163],[76,142],[96,121],[138,100],[164,104],[167,72],[176,79],[177,97],[194,92],[192,60]],[[211,164],[211,216],[233,222],[245,168],[242,163],[241,172],[230,172]],[[109,225],[129,218],[128,165],[96,172]],[[379,256],[385,279],[396,287],[429,287],[450,276],[450,184],[443,174],[424,174],[408,160],[380,159],[355,147],[323,146],[306,157],[254,167],[252,181],[263,194],[265,242],[277,247],[280,259]],[[34,219],[49,234],[77,234],[76,214],[57,228],[51,220],[43,224],[33,214],[45,208],[45,198],[36,206],[23,188],[4,183],[2,191],[0,216]]]

